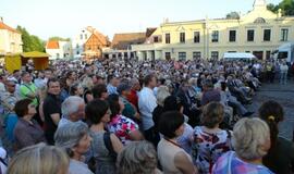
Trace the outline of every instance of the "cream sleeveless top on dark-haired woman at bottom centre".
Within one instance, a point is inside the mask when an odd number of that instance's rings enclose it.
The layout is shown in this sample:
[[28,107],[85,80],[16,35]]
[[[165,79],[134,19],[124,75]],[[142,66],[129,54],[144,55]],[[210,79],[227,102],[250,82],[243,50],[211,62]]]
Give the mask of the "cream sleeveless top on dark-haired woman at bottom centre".
[[191,156],[188,156],[184,149],[176,147],[164,138],[159,141],[157,154],[164,174],[182,174],[182,172],[174,164],[174,158],[179,152],[185,153],[192,162]]

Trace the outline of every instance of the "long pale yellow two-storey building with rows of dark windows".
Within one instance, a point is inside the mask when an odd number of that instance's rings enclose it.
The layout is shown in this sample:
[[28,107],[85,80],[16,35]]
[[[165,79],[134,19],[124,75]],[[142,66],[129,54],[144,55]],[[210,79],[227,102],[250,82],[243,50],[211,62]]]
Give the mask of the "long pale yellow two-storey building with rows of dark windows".
[[294,16],[267,10],[266,0],[255,0],[253,10],[238,20],[164,22],[143,45],[132,45],[144,59],[221,59],[225,52],[250,52],[268,59],[271,52],[294,41]]

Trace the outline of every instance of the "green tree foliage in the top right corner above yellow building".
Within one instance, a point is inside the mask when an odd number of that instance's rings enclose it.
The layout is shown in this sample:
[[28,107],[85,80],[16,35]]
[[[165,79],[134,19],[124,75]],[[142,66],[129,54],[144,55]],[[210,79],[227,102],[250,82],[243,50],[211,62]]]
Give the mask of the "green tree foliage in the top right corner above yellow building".
[[274,5],[272,3],[268,4],[268,10],[278,13],[279,9],[282,10],[282,15],[294,15],[294,1],[283,0],[279,4]]

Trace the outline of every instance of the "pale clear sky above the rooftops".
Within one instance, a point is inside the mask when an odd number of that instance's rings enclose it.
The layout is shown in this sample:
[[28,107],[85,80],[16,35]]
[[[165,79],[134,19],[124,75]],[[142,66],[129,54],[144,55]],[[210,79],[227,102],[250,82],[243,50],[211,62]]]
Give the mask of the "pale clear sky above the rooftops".
[[[278,4],[281,0],[267,0]],[[254,0],[0,0],[0,16],[46,40],[72,38],[93,26],[112,39],[115,33],[145,32],[170,22],[224,17],[253,9]]]

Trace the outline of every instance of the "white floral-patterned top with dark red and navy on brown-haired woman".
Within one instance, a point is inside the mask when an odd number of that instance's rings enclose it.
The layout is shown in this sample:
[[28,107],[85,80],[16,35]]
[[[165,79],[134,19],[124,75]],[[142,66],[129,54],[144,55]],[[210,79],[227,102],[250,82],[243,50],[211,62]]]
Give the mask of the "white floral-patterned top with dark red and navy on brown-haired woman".
[[220,130],[215,134],[206,133],[203,126],[194,129],[192,145],[193,162],[199,173],[210,173],[218,158],[231,149],[231,132]]

